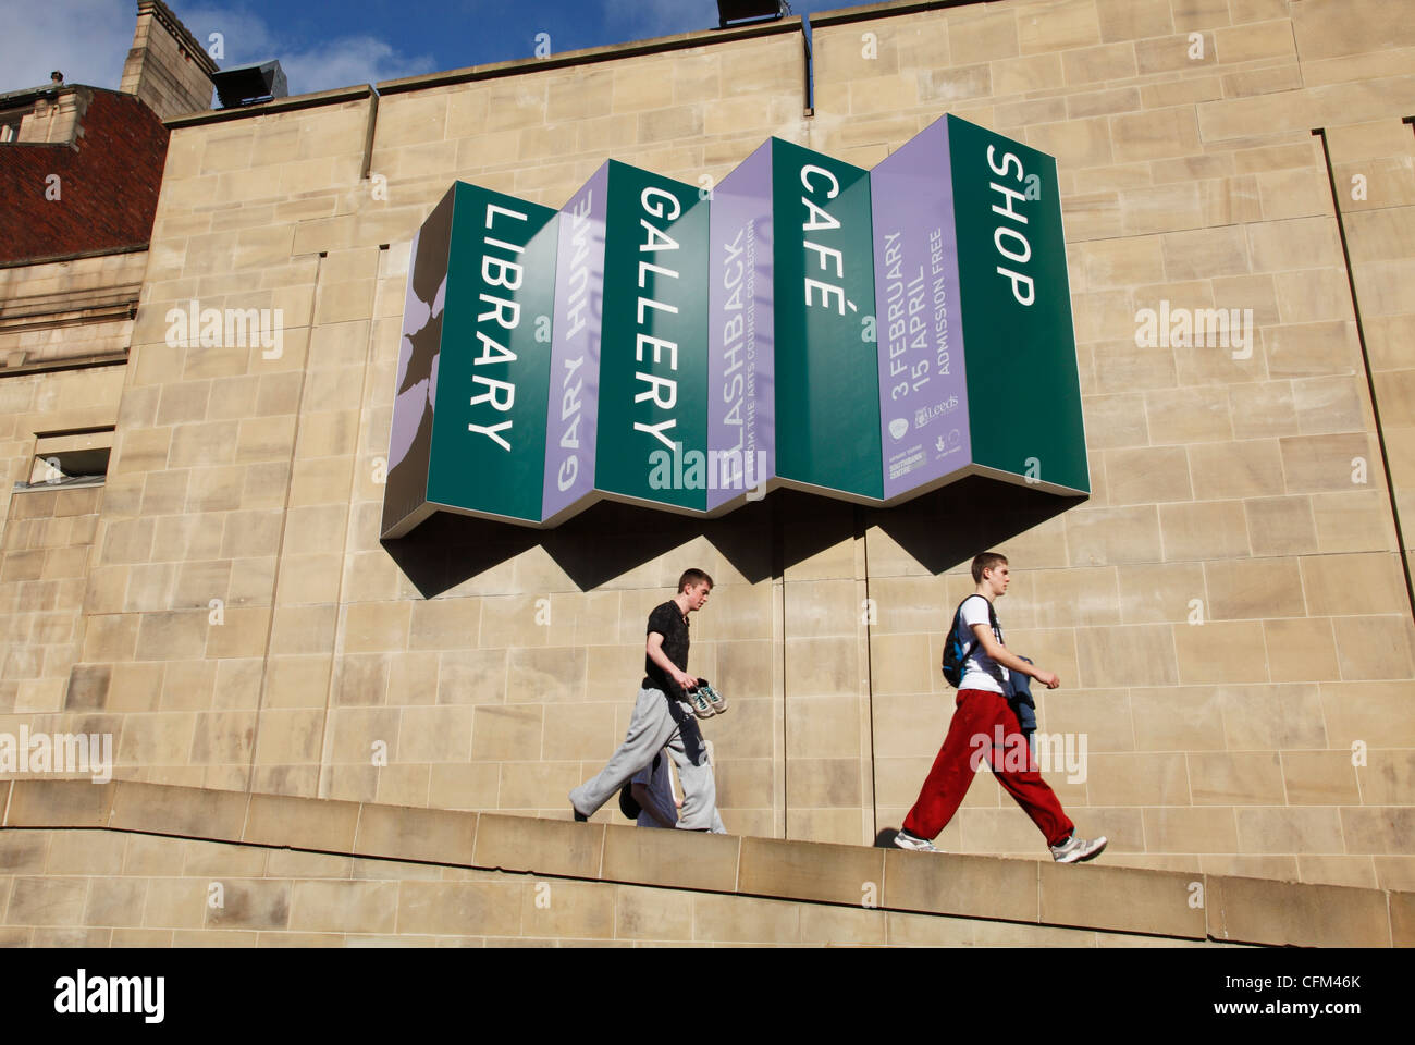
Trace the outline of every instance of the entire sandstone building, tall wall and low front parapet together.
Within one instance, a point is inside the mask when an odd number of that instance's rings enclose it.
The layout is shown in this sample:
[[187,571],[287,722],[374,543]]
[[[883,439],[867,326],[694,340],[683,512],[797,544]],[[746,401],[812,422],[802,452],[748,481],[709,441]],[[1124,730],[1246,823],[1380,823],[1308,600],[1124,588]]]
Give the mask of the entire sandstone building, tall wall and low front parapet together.
[[[100,500],[7,494],[0,729],[116,755],[106,787],[13,786],[0,933],[1409,942],[1405,4],[899,0],[815,16],[811,40],[811,108],[797,18],[158,108],[147,251],[103,262],[142,287],[108,320],[126,361],[0,378],[11,483],[45,433],[113,429]],[[872,167],[945,112],[1057,157],[1088,500],[778,493],[720,521],[601,506],[379,541],[409,245],[454,180],[558,208],[606,159],[699,184],[771,135]],[[171,344],[192,300],[270,310],[280,350]],[[1252,310],[1251,354],[1143,347],[1162,302]],[[944,735],[941,632],[986,547],[1016,569],[1009,644],[1063,678],[1041,728],[1087,739],[1085,779],[1049,779],[1111,837],[1099,867],[1033,862],[992,780],[940,838],[979,855],[862,848]],[[689,565],[717,581],[692,667],[732,695],[705,729],[749,837],[563,823]],[[572,903],[539,910],[524,871]],[[242,879],[228,913],[202,909],[212,875]]]

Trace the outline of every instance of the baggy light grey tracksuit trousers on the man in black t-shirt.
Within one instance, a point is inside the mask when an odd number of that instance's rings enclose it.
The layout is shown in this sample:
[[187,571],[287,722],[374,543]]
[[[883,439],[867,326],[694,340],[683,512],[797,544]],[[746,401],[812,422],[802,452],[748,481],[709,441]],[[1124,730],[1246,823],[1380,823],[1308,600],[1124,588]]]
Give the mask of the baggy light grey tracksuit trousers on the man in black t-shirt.
[[594,779],[570,792],[570,804],[587,817],[594,816],[659,750],[666,750],[674,759],[678,779],[683,783],[678,827],[688,831],[722,830],[722,820],[716,816],[717,784],[698,719],[688,704],[671,699],[662,690],[638,691],[624,743]]

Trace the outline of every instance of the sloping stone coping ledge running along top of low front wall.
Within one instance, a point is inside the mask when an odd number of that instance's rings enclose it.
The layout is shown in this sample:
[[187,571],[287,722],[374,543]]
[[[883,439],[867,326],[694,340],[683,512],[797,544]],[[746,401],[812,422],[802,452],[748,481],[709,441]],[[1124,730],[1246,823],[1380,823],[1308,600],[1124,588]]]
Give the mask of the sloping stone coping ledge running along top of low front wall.
[[1060,867],[113,780],[0,782],[4,828],[99,828],[1174,940],[1415,944],[1415,893]]

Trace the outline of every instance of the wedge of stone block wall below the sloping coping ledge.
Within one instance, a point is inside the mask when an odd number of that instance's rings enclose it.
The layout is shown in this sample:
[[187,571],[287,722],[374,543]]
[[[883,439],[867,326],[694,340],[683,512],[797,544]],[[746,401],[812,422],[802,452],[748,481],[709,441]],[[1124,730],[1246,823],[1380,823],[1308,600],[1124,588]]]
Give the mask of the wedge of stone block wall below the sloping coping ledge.
[[6,831],[0,854],[11,947],[1204,946],[108,831]]

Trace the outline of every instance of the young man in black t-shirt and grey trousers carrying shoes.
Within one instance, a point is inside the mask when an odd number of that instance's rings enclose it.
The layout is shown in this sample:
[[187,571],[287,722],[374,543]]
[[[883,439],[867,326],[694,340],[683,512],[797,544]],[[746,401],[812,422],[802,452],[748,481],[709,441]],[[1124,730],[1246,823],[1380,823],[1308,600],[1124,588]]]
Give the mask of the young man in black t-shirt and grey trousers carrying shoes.
[[698,680],[688,674],[688,615],[708,605],[709,592],[710,576],[700,569],[685,571],[678,579],[678,595],[648,615],[645,675],[628,733],[608,765],[593,780],[570,792],[576,820],[594,816],[659,750],[666,750],[678,765],[678,779],[683,784],[678,827],[686,831],[722,830],[708,745],[692,705],[683,697],[686,690],[698,685]]

